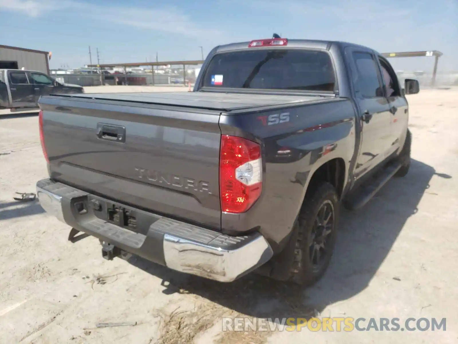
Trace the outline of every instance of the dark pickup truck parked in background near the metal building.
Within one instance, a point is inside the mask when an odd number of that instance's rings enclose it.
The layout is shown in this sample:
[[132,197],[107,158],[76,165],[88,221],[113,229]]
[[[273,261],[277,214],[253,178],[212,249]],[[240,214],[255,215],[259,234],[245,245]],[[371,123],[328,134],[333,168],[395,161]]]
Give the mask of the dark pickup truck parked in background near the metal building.
[[42,72],[0,69],[0,109],[37,108],[42,95],[84,93],[79,85],[58,83]]

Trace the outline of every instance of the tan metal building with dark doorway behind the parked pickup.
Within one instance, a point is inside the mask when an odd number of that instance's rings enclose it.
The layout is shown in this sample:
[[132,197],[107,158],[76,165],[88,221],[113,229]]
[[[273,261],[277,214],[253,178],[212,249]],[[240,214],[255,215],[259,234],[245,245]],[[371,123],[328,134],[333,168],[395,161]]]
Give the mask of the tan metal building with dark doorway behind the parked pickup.
[[49,75],[49,53],[0,45],[0,69],[28,69]]

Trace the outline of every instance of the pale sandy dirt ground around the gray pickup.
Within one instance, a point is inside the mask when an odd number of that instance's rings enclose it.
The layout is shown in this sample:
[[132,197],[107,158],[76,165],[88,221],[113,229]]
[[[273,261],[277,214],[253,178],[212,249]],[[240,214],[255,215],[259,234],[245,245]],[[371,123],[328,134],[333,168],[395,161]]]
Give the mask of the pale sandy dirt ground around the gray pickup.
[[[409,174],[343,211],[329,270],[309,289],[255,275],[216,283],[140,258],[106,261],[92,237],[71,244],[38,202],[13,200],[47,177],[36,113],[0,116],[0,343],[457,343],[458,90],[409,103]],[[447,330],[221,331],[221,317],[240,315],[436,317]]]

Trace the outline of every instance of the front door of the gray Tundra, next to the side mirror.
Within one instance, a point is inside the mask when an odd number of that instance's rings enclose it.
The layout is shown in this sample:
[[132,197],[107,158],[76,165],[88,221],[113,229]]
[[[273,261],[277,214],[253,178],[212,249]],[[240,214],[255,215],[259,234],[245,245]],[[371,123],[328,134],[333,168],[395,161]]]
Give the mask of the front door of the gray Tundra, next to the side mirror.
[[382,56],[378,56],[378,60],[383,76],[383,87],[391,112],[391,151],[393,152],[404,143],[409,125],[409,112],[407,100],[401,95],[401,87],[393,67]]

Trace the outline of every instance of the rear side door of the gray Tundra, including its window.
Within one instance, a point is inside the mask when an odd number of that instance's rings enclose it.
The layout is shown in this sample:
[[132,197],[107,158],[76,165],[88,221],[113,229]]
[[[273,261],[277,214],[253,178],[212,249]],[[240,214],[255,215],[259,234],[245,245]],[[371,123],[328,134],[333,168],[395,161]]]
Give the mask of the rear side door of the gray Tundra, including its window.
[[392,115],[375,55],[363,48],[347,48],[346,54],[360,111],[361,142],[355,166],[355,177],[360,178],[389,154]]

